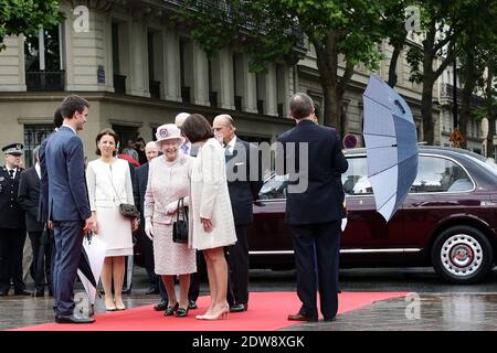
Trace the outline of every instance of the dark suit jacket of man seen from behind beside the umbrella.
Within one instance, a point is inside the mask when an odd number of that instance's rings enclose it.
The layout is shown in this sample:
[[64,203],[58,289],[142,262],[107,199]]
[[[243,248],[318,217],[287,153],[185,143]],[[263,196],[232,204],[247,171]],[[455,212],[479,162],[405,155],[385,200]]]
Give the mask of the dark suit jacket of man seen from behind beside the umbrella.
[[[343,216],[343,188],[338,176],[348,168],[341,152],[337,131],[304,120],[283,133],[278,141],[308,142],[308,188],[304,193],[288,193],[286,221],[288,224],[316,224],[340,220]],[[298,145],[294,157],[299,165]],[[296,181],[289,183],[298,183]]]

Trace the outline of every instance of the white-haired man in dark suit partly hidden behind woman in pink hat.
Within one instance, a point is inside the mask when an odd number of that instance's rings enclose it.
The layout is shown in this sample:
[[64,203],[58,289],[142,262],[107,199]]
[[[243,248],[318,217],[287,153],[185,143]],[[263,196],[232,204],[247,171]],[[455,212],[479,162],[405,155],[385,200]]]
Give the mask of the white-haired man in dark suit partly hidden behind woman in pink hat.
[[[155,272],[154,265],[154,245],[152,242],[145,234],[145,218],[144,218],[144,203],[145,203],[145,192],[147,191],[148,183],[148,162],[159,156],[159,148],[157,143],[150,141],[145,147],[145,156],[147,157],[147,163],[137,168],[135,171],[135,188],[133,193],[135,196],[135,205],[138,206],[140,212],[140,226],[138,229],[138,242],[140,243],[140,248],[144,252],[145,258],[145,269],[147,270],[149,289],[146,295],[158,295],[159,293],[159,276]],[[166,310],[166,309],[163,309]]]

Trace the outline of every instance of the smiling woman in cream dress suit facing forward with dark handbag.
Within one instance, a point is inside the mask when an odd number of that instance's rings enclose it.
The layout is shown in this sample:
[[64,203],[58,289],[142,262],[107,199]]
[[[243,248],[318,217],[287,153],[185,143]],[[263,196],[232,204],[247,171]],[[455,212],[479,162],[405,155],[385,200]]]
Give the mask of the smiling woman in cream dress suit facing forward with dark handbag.
[[134,197],[128,162],[114,157],[118,141],[114,130],[102,130],[96,137],[97,154],[101,158],[91,161],[86,168],[94,232],[107,245],[102,284],[105,290],[105,308],[108,311],[126,309],[121,298],[124,259],[125,256],[133,256],[131,228],[137,227],[136,222],[131,224],[119,212],[119,204],[134,204]]

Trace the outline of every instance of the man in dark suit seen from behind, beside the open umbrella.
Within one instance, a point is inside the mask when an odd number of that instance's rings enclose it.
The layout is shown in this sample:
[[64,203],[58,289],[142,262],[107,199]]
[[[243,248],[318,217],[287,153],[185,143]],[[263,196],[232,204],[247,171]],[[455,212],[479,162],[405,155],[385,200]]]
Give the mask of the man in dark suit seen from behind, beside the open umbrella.
[[343,188],[337,175],[347,171],[348,163],[337,131],[313,121],[314,105],[308,95],[295,94],[289,114],[297,126],[278,138],[283,151],[278,149],[276,158],[285,156],[289,173],[286,222],[294,244],[297,295],[303,304],[288,320],[318,321],[317,271],[320,310],[325,321],[331,321],[338,310],[337,254],[343,216]]

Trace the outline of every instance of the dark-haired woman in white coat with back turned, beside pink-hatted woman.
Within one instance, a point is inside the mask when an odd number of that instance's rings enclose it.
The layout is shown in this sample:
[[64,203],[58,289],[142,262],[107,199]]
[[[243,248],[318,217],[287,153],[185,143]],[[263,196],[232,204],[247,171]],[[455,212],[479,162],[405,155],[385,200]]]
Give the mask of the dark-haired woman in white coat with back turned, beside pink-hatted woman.
[[202,250],[205,258],[211,302],[207,312],[197,319],[224,319],[230,311],[224,246],[236,242],[224,150],[214,139],[209,121],[199,114],[189,116],[181,131],[200,147],[191,173],[190,236],[192,246]]

